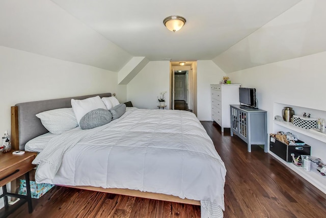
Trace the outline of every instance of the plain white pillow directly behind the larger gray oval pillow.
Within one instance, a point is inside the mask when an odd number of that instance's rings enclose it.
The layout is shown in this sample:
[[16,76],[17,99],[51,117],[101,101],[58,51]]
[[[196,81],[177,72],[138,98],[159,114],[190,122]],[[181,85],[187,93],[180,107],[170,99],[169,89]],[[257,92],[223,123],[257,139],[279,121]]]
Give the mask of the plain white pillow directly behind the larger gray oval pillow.
[[100,96],[98,95],[84,100],[72,99],[71,106],[76,116],[78,125],[80,119],[82,119],[82,117],[88,112],[90,112],[91,110],[95,110],[98,108],[106,109],[104,103],[102,102]]

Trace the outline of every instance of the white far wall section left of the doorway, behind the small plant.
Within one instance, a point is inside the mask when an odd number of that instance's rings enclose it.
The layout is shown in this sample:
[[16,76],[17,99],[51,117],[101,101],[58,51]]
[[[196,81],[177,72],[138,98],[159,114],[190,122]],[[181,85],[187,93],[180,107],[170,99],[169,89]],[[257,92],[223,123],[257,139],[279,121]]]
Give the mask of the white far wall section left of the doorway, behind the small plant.
[[157,96],[168,91],[166,109],[170,108],[170,62],[151,61],[127,85],[127,100],[134,107],[158,109]]

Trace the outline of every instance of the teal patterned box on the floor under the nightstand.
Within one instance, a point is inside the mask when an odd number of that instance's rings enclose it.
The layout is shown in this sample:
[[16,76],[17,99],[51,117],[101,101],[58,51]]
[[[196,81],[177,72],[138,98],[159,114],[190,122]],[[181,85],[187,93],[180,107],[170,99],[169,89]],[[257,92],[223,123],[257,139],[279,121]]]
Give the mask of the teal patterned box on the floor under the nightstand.
[[[47,183],[37,184],[35,181],[30,181],[30,185],[31,185],[32,198],[36,198],[36,199],[41,198],[48,190],[50,190],[53,186],[55,186]],[[20,179],[18,194],[27,195],[26,180],[24,179]]]

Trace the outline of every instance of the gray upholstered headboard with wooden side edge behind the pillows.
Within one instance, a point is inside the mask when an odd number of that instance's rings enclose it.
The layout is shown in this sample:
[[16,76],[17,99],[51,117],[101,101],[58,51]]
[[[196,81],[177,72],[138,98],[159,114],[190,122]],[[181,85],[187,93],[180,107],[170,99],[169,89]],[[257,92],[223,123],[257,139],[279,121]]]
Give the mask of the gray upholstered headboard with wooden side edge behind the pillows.
[[69,108],[71,99],[87,99],[99,95],[110,97],[111,93],[91,94],[63,99],[52,99],[37,102],[25,102],[16,104],[11,109],[11,134],[13,148],[24,150],[25,143],[48,131],[43,127],[41,120],[35,116],[42,111]]

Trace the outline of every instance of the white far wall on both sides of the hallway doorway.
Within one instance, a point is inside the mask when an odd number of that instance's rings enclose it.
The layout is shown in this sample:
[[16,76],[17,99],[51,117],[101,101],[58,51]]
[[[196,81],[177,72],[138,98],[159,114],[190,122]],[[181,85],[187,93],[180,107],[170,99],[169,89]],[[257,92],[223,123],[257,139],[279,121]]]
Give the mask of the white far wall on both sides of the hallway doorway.
[[[194,108],[199,120],[211,120],[210,84],[219,83],[226,74],[211,60],[197,61],[192,65],[194,74]],[[233,83],[233,81],[232,81]],[[157,96],[170,91],[170,62],[151,61],[127,85],[127,100],[133,106],[157,109]],[[167,93],[170,108],[170,95]]]

